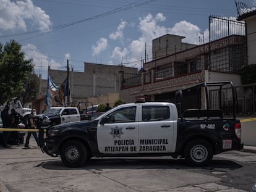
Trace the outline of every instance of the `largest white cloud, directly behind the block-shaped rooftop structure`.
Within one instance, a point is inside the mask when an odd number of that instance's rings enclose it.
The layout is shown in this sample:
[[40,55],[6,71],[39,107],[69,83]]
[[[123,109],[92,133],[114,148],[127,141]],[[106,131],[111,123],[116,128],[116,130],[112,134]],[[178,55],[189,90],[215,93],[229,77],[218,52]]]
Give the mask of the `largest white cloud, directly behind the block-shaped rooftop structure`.
[[[182,42],[199,44],[199,36],[202,37],[202,32],[197,25],[194,25],[187,21],[177,22],[174,27],[164,27],[161,22],[166,21],[166,17],[163,14],[158,13],[153,15],[148,14],[145,17],[140,17],[139,30],[141,36],[138,40],[133,40],[129,45],[130,60],[137,61],[141,57],[145,59],[145,43],[147,43],[147,55],[151,58],[152,40],[160,36],[166,35],[167,33],[173,35],[185,36]],[[208,38],[208,30],[204,32],[205,41]]]

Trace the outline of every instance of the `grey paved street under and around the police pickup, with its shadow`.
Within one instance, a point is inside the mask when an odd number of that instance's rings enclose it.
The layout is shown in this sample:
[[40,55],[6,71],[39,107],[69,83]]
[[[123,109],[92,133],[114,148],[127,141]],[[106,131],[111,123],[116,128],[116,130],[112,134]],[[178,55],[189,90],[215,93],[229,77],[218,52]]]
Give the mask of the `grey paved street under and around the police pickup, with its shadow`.
[[30,139],[32,149],[0,147],[0,191],[252,191],[255,147],[219,154],[207,167],[171,157],[95,158],[65,167]]

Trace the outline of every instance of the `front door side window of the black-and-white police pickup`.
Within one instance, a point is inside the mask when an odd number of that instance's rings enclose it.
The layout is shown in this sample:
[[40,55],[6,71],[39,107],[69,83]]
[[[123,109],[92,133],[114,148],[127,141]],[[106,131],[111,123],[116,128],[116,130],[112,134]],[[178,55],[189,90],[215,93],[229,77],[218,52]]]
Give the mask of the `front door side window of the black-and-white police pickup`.
[[109,123],[135,122],[136,107],[118,109],[108,115]]

